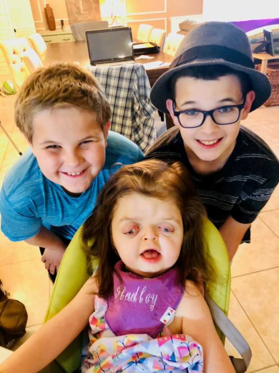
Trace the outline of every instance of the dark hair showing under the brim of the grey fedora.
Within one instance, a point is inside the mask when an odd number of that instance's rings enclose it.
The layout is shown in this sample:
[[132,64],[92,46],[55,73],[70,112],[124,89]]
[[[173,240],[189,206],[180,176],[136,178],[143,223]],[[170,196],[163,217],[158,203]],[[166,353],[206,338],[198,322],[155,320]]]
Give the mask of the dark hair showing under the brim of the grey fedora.
[[221,76],[235,75],[240,81],[242,98],[251,90],[251,83],[249,76],[242,71],[237,71],[225,65],[200,65],[191,66],[184,70],[175,73],[170,79],[170,92],[172,100],[175,101],[175,84],[182,76],[202,80],[217,80]]

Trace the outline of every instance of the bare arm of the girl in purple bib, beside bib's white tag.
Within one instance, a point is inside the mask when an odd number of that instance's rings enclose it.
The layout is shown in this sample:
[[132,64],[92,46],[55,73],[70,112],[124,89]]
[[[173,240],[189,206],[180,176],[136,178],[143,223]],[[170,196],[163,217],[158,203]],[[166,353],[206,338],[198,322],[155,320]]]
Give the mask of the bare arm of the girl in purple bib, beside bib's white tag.
[[200,291],[190,281],[187,292],[177,309],[176,316],[183,316],[182,332],[190,335],[203,348],[204,373],[235,373],[231,360],[219,338],[209,308]]

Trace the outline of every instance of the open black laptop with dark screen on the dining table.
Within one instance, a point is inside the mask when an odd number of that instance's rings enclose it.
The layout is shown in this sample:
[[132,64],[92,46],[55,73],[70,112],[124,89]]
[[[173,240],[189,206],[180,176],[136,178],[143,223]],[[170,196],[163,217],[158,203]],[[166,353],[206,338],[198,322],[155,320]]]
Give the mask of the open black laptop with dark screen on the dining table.
[[106,28],[86,31],[91,65],[121,65],[134,63],[132,32],[130,27]]

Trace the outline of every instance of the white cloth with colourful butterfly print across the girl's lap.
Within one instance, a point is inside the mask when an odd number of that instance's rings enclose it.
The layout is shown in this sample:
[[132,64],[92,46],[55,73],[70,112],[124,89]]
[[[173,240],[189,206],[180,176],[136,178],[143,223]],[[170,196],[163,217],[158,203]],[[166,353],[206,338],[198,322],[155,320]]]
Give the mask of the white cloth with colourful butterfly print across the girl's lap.
[[82,373],[203,372],[201,345],[190,336],[177,334],[152,339],[129,334],[96,339],[83,362]]

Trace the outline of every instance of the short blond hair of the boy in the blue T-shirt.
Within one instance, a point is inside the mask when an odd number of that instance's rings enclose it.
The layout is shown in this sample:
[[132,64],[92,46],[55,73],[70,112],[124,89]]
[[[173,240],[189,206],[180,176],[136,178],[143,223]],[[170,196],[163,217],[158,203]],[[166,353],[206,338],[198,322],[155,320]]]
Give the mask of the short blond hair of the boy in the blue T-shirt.
[[15,122],[32,142],[35,113],[71,106],[92,112],[102,131],[111,119],[110,104],[91,73],[75,63],[42,67],[30,75],[20,88],[15,103]]

